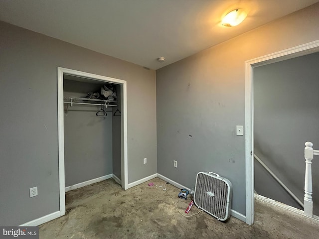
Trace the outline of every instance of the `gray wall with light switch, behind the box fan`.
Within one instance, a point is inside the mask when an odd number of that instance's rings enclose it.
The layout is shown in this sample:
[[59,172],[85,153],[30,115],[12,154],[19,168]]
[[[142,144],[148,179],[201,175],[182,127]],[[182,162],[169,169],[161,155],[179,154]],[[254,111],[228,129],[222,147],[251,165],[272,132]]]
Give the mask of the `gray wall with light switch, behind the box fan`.
[[245,137],[236,136],[245,123],[244,62],[318,40],[318,12],[312,5],[157,71],[160,174],[194,187],[197,172],[219,173],[245,215]]

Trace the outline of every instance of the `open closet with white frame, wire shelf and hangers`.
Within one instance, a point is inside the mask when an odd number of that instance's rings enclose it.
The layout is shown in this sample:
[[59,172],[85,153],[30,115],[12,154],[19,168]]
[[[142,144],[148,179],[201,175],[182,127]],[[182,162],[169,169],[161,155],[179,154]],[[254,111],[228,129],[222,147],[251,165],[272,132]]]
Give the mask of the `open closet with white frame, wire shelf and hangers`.
[[65,193],[113,178],[128,188],[126,81],[58,67],[60,216]]

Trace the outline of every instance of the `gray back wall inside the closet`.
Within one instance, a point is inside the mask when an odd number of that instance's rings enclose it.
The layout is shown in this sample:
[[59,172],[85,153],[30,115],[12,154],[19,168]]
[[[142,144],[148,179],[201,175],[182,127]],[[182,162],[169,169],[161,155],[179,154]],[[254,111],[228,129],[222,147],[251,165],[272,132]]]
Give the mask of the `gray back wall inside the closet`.
[[[100,87],[101,83],[69,81],[64,77],[64,96],[85,97],[90,91],[100,92]],[[66,187],[113,173],[113,115],[111,111],[107,116],[96,116],[100,109],[69,105],[68,115],[64,114]]]

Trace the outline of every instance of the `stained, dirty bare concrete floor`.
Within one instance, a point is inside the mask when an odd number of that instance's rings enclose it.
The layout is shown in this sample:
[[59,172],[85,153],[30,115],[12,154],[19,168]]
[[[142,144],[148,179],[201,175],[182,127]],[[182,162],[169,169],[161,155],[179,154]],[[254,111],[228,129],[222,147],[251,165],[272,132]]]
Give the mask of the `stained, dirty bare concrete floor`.
[[[256,199],[255,223],[231,217],[219,222],[205,212],[185,218],[190,198],[155,178],[124,191],[113,179],[66,193],[65,216],[39,227],[40,239],[318,239],[319,221]],[[158,185],[156,187],[156,185]],[[162,186],[162,187],[160,187]],[[199,210],[192,207],[189,214]]]

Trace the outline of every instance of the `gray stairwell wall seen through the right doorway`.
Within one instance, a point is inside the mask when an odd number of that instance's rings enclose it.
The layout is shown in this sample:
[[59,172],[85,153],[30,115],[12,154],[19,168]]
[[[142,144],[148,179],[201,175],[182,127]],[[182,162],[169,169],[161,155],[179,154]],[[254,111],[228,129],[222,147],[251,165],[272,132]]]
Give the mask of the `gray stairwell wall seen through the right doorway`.
[[[319,148],[319,53],[254,68],[255,152],[303,202],[304,148]],[[256,164],[257,193],[298,207]],[[319,215],[319,163],[314,159],[314,213]]]

